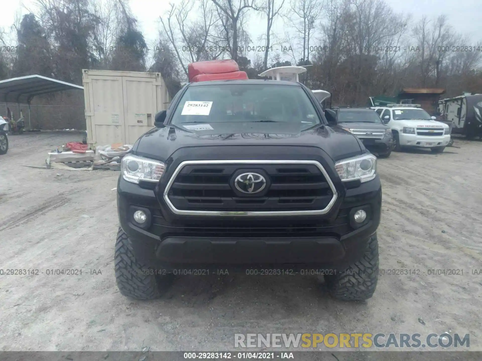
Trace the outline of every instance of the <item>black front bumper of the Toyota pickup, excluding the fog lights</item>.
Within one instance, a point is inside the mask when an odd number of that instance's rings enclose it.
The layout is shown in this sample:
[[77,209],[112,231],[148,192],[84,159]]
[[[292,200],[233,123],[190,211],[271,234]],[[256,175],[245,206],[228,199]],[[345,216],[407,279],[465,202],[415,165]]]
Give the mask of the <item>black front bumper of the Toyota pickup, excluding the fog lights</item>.
[[[346,190],[342,202],[326,215],[242,218],[179,216],[155,191],[119,178],[120,226],[132,241],[134,255],[148,267],[174,270],[219,266],[324,265],[344,269],[362,257],[380,222],[381,184],[378,176]],[[138,207],[150,213],[150,225],[135,224]],[[363,208],[361,227],[350,212]]]

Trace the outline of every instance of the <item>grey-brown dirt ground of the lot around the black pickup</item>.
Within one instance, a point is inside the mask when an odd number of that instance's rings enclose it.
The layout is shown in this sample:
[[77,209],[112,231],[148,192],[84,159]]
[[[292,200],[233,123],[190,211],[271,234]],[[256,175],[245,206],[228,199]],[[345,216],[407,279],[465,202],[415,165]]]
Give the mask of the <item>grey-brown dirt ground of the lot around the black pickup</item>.
[[240,274],[178,277],[161,299],[137,302],[114,278],[119,173],[25,167],[81,138],[11,136],[0,156],[0,270],[40,270],[0,276],[0,350],[233,350],[235,333],[447,331],[469,333],[470,350],[482,350],[482,274],[473,271],[482,269],[482,142],[379,160],[385,274],[367,302],[335,301],[314,277]]

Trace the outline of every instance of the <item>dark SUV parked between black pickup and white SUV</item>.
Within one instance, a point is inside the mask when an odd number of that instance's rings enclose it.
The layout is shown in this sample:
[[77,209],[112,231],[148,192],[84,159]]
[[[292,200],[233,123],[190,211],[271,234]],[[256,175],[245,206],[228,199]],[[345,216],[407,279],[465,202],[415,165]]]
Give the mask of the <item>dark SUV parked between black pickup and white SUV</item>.
[[337,108],[336,123],[339,127],[360,138],[363,145],[379,157],[388,158],[393,149],[390,127],[370,108]]

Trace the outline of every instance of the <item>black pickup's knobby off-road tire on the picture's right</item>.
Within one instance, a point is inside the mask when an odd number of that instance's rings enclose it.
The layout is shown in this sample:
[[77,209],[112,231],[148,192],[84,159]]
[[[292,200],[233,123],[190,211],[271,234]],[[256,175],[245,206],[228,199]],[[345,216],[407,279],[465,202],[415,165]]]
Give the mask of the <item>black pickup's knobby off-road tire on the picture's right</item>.
[[363,257],[344,272],[325,276],[332,297],[343,301],[364,301],[375,293],[378,281],[378,240],[367,242]]

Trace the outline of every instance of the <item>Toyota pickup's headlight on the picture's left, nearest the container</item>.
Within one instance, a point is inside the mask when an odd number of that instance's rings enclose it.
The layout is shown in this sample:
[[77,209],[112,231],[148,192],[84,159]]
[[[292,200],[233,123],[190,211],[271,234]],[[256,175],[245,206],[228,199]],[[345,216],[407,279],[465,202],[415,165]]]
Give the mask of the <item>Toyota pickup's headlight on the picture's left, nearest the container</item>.
[[166,165],[153,159],[125,155],[120,162],[122,178],[131,183],[139,181],[157,182],[161,179]]

